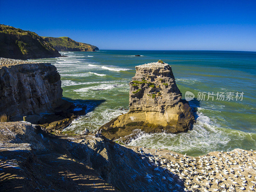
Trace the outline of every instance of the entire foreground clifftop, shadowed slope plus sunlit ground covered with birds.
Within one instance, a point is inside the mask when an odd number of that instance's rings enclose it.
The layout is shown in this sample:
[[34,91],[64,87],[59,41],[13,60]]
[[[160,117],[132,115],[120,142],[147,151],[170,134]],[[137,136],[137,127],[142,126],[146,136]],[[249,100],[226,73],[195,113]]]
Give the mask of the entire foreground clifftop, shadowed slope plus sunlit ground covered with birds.
[[52,135],[27,122],[0,123],[4,191],[254,191],[256,151],[192,157],[122,146],[100,133]]

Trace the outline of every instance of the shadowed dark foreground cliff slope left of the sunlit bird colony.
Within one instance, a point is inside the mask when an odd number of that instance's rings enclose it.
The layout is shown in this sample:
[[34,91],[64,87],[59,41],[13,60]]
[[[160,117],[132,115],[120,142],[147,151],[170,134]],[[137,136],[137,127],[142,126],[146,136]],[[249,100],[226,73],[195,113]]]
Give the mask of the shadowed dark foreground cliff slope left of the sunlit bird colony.
[[184,182],[166,168],[154,171],[144,155],[95,136],[55,136],[29,123],[0,123],[1,189],[184,191]]

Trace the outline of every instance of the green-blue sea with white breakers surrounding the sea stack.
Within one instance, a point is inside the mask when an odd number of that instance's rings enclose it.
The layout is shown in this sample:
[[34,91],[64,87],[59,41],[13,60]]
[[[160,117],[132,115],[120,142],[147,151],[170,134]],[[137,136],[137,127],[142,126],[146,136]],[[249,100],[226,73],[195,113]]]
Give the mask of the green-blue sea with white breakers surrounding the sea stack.
[[[256,148],[256,52],[121,51],[61,52],[68,57],[39,59],[56,66],[63,97],[87,105],[87,114],[67,129],[91,130],[128,109],[129,82],[135,66],[161,59],[172,66],[185,98],[190,91],[244,92],[243,100],[192,100],[196,124],[179,134],[142,134],[130,145],[166,148],[188,155],[234,148]],[[134,57],[140,54],[141,57]],[[37,60],[37,61],[39,61]],[[205,97],[207,99],[207,95]],[[225,98],[226,99],[226,98]]]

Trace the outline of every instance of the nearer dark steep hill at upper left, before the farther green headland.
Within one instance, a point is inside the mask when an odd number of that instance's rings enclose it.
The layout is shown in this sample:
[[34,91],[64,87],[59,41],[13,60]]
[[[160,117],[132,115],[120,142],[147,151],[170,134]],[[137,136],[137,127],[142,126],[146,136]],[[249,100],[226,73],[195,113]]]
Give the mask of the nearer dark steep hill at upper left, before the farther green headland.
[[60,56],[36,33],[0,24],[0,57],[26,60]]

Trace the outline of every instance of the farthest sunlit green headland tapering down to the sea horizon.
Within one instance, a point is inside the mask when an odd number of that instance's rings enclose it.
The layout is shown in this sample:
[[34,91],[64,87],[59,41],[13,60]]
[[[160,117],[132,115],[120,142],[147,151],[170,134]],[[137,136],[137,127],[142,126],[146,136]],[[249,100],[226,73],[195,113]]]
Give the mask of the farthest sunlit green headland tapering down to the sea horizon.
[[87,44],[76,42],[69,37],[42,37],[44,40],[53,45],[58,51],[95,51],[99,50],[98,47]]

